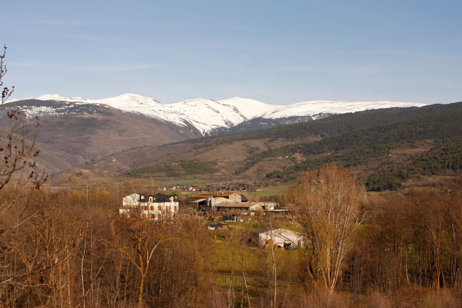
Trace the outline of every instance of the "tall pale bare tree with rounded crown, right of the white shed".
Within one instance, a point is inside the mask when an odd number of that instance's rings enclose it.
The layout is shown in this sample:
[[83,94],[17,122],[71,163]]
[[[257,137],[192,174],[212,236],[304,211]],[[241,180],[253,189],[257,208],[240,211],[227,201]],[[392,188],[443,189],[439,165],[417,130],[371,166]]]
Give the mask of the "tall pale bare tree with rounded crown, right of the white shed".
[[315,282],[332,294],[350,239],[360,223],[360,194],[349,171],[323,165],[287,187],[283,199],[294,211],[312,249],[304,249],[305,266]]

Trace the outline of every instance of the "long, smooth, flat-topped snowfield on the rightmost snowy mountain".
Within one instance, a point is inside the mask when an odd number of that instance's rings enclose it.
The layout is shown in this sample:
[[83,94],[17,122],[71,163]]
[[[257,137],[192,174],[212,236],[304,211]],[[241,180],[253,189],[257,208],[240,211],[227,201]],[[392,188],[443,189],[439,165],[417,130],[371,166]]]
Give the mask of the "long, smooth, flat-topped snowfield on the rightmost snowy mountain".
[[421,107],[426,104],[408,102],[333,102],[333,101],[308,101],[280,107],[259,114],[263,119],[278,119],[288,117],[300,117],[310,115],[313,120],[324,117],[326,114],[356,112],[369,109],[392,108],[392,107]]

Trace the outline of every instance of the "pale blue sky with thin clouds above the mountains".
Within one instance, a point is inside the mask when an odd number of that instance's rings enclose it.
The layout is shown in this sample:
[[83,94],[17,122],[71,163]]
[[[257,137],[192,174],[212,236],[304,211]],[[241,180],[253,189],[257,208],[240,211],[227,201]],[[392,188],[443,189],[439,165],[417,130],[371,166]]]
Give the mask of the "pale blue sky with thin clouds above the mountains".
[[462,101],[462,1],[5,1],[17,99]]

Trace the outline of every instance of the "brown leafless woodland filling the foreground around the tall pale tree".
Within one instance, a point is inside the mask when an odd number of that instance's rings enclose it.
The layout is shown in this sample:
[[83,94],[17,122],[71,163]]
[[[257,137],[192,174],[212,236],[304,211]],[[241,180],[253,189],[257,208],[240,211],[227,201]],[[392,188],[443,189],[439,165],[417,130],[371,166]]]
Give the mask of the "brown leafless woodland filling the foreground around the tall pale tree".
[[[361,223],[332,295],[310,278],[308,248],[248,245],[253,228],[207,230],[183,215],[152,223],[117,213],[142,183],[35,190],[2,213],[4,307],[456,307],[462,304],[462,178],[448,190],[361,194]],[[8,202],[8,189],[2,204]],[[310,256],[310,253],[307,254]]]

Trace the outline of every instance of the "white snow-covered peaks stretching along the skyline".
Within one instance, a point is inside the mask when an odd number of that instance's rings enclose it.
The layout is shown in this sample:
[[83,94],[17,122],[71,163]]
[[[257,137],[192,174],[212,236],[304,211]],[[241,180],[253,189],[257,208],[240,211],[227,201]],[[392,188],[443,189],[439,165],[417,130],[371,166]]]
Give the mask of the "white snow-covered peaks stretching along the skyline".
[[[31,100],[28,98],[25,100]],[[328,117],[331,114],[362,111],[367,109],[424,106],[419,103],[402,102],[332,102],[309,101],[292,105],[269,105],[256,100],[232,98],[221,101],[193,99],[173,104],[163,104],[155,99],[126,93],[115,98],[90,100],[66,98],[58,94],[45,94],[34,100],[60,102],[60,106],[23,106],[29,115],[69,113],[69,106],[102,104],[123,112],[138,113],[164,123],[172,123],[184,129],[196,128],[203,136],[229,131],[246,122],[261,122],[258,128],[296,123]],[[20,100],[24,101],[24,100]],[[84,107],[84,106],[82,106]],[[61,109],[60,109],[61,108]],[[73,107],[75,108],[75,107]],[[81,111],[81,110],[80,110]],[[91,112],[89,112],[91,113]],[[276,119],[284,119],[278,121]],[[265,123],[271,122],[271,125]],[[278,124],[280,123],[280,124]],[[248,124],[253,127],[254,124]]]

